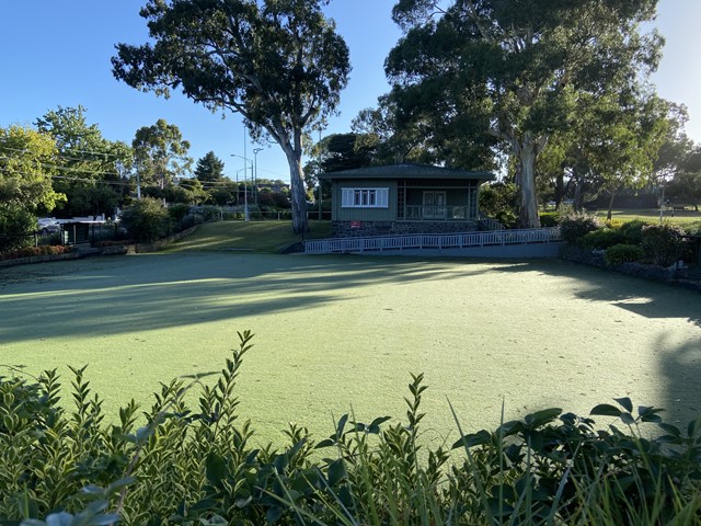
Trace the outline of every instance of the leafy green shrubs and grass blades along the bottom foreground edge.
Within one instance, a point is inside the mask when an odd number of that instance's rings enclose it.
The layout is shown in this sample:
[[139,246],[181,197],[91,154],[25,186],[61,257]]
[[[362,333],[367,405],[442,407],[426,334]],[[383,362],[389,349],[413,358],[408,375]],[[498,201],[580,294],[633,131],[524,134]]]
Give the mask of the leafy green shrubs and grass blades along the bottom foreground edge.
[[701,512],[701,418],[682,428],[628,398],[591,411],[625,431],[551,408],[460,431],[450,453],[422,441],[427,387],[412,375],[403,423],[345,414],[319,443],[291,424],[287,447],[256,448],[235,396],[252,334],[239,340],[221,371],[163,384],[142,423],[134,401],[106,423],[85,367],[71,367],[70,403],[55,370],[0,377],[0,522],[676,524]]

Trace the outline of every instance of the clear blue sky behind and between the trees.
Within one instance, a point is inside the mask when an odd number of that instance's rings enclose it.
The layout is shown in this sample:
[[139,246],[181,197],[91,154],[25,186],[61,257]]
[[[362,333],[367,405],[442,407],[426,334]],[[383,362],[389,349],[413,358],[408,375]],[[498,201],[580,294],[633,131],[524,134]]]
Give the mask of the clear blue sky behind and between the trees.
[[[146,0],[4,0],[0,31],[0,126],[31,125],[59,105],[87,108],[111,140],[131,142],[135,132],[159,118],[175,124],[197,160],[214,151],[232,179],[244,165],[244,130],[237,115],[212,115],[175,94],[170,100],[140,93],[111,72],[118,42],[141,44],[147,31],[138,15]],[[391,21],[394,0],[335,0],[327,8],[350,48],[353,71],[342,94],[341,115],[327,133],[349,129],[359,110],[374,106],[389,89],[383,61],[401,33]],[[701,142],[701,1],[660,0],[657,27],[665,36],[664,59],[654,77],[665,99],[689,107],[687,133]],[[252,157],[255,145],[246,145]],[[257,156],[258,176],[289,180],[277,146]]]

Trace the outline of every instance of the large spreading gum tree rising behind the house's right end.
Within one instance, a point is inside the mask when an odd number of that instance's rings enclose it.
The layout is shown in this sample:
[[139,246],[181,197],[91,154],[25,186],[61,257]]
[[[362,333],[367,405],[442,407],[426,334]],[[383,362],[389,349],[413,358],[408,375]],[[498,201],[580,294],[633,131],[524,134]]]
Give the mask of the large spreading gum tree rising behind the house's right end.
[[641,93],[662,48],[643,34],[656,3],[399,1],[392,15],[405,35],[386,60],[392,95],[411,125],[428,119],[444,142],[496,138],[517,171],[521,226],[537,227],[535,164],[549,139],[581,129],[571,144],[601,153],[610,179],[632,179],[655,157],[664,118],[658,99]]

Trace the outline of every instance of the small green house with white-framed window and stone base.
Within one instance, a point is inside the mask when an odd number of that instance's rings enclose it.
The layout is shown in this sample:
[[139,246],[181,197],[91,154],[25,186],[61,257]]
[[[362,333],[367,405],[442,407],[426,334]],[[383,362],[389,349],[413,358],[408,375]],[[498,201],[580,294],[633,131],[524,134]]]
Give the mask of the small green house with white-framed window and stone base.
[[320,179],[332,185],[333,236],[356,237],[476,230],[479,187],[494,174],[394,164]]

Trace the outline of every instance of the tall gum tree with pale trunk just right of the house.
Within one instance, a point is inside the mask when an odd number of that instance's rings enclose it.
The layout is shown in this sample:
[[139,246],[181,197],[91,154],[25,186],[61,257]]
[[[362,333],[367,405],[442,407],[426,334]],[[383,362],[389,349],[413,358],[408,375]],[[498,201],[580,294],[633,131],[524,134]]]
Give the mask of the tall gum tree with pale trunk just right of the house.
[[654,70],[662,38],[641,24],[656,4],[400,0],[393,18],[405,35],[386,70],[395,90],[427,85],[455,118],[484,123],[481,133],[499,139],[517,167],[519,225],[538,227],[538,156],[576,115],[579,93],[623,91]]

